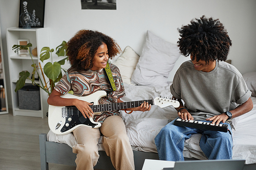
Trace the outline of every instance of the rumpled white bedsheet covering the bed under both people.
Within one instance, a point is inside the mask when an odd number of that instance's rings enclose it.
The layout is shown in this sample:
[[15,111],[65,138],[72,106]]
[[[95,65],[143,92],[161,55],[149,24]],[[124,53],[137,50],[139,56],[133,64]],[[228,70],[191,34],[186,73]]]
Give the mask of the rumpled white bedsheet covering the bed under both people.
[[[155,99],[158,96],[171,97],[169,87],[152,87],[152,86],[134,86],[124,84],[126,96],[121,100],[137,101],[146,99]],[[254,106],[256,98],[251,97]],[[126,126],[127,135],[130,139],[133,150],[144,152],[156,152],[154,138],[159,131],[171,120],[177,117],[177,111],[173,106],[160,108],[156,105],[147,112],[135,111],[132,114],[126,114],[121,111]],[[256,108],[240,117],[234,118],[236,131],[233,135],[233,159],[245,159],[246,164],[256,163]],[[183,151],[184,157],[207,159],[199,147],[200,134],[192,135],[185,141]],[[49,131],[48,141],[67,143],[72,147],[77,142],[72,133],[67,135],[55,135]],[[101,139],[98,148],[103,150]]]

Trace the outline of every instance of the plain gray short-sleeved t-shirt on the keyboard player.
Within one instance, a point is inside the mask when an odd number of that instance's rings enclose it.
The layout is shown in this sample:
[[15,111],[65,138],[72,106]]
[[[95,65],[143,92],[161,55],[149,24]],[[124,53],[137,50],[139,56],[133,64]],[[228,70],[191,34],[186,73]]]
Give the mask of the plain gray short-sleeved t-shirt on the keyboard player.
[[184,101],[197,120],[233,110],[251,96],[238,69],[224,61],[216,61],[215,69],[210,72],[196,70],[191,60],[182,63],[170,92]]

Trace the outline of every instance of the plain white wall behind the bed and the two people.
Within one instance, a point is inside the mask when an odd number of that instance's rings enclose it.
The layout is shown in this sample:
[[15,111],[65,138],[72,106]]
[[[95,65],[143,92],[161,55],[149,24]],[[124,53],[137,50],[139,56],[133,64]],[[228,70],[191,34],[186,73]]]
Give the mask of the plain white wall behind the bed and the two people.
[[[80,29],[92,29],[113,37],[122,50],[129,45],[140,55],[146,30],[176,43],[177,28],[194,17],[212,16],[226,27],[233,43],[228,59],[244,74],[256,71],[255,9],[255,0],[117,0],[117,10],[81,10],[80,0],[46,0],[45,27],[50,28],[52,48],[62,40],[68,41]],[[19,0],[0,0],[4,55],[6,29],[18,27],[18,15]],[[6,58],[4,62],[7,65]]]

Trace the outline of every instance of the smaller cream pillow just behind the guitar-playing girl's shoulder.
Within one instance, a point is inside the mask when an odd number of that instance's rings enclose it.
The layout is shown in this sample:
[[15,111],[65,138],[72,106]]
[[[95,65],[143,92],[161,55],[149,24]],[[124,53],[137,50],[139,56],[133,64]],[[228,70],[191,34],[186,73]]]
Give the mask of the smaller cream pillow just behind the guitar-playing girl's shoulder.
[[131,77],[138,60],[139,56],[135,51],[130,46],[126,46],[122,55],[113,62],[119,68],[124,83],[132,84]]

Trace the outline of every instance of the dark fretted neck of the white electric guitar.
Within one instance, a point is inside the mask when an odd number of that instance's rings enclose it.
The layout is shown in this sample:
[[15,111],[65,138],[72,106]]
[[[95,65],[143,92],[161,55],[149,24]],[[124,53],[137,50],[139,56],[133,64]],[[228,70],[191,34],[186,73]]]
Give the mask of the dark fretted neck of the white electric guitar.
[[132,101],[132,102],[122,102],[122,103],[110,103],[103,105],[92,105],[90,106],[93,112],[103,112],[103,111],[111,111],[111,110],[121,110],[139,107],[142,103],[147,102],[148,105],[154,105],[154,100],[143,100],[143,101]]

